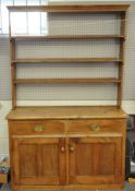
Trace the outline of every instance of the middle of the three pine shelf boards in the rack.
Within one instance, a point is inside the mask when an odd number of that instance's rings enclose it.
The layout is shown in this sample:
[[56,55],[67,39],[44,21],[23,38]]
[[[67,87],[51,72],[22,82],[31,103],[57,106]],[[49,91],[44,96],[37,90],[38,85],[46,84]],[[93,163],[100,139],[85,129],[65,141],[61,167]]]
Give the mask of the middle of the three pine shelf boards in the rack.
[[33,58],[16,59],[13,63],[95,63],[95,62],[122,62],[121,58]]

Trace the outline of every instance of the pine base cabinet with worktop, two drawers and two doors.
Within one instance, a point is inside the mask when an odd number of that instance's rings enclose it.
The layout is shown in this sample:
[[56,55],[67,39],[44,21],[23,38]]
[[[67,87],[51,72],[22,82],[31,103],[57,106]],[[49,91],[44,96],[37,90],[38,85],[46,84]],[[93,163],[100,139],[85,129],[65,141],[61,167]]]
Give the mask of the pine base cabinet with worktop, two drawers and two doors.
[[124,187],[122,109],[19,107],[7,118],[12,190]]

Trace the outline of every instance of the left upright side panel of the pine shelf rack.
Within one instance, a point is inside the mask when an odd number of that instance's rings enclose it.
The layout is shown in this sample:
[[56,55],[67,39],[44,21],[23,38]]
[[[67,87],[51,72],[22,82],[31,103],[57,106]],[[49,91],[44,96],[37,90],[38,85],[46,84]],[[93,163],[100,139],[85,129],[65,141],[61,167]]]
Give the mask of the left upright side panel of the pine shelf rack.
[[16,107],[16,65],[13,63],[15,60],[15,39],[11,38],[11,13],[9,12],[9,38],[10,38],[10,59],[11,59],[11,86],[12,86],[12,109]]

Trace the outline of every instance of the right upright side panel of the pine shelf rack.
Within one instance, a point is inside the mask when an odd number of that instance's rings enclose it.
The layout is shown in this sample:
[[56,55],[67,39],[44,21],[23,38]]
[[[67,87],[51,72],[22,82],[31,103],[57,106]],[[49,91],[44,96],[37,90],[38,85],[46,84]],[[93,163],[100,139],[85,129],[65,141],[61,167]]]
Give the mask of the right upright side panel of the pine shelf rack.
[[121,35],[124,36],[124,39],[120,43],[120,58],[122,59],[122,64],[119,64],[119,80],[121,83],[118,85],[118,106],[122,106],[122,85],[123,85],[123,65],[124,65],[124,56],[125,56],[125,27],[126,27],[126,12],[121,13]]

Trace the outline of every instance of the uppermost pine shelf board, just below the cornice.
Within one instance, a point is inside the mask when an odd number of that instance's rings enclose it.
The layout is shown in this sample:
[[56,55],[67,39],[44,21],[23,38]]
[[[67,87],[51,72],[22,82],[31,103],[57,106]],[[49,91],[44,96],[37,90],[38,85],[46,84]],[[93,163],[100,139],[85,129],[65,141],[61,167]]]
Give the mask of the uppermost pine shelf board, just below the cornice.
[[124,39],[124,35],[46,35],[46,36],[11,36],[16,40],[35,40],[35,39]]

